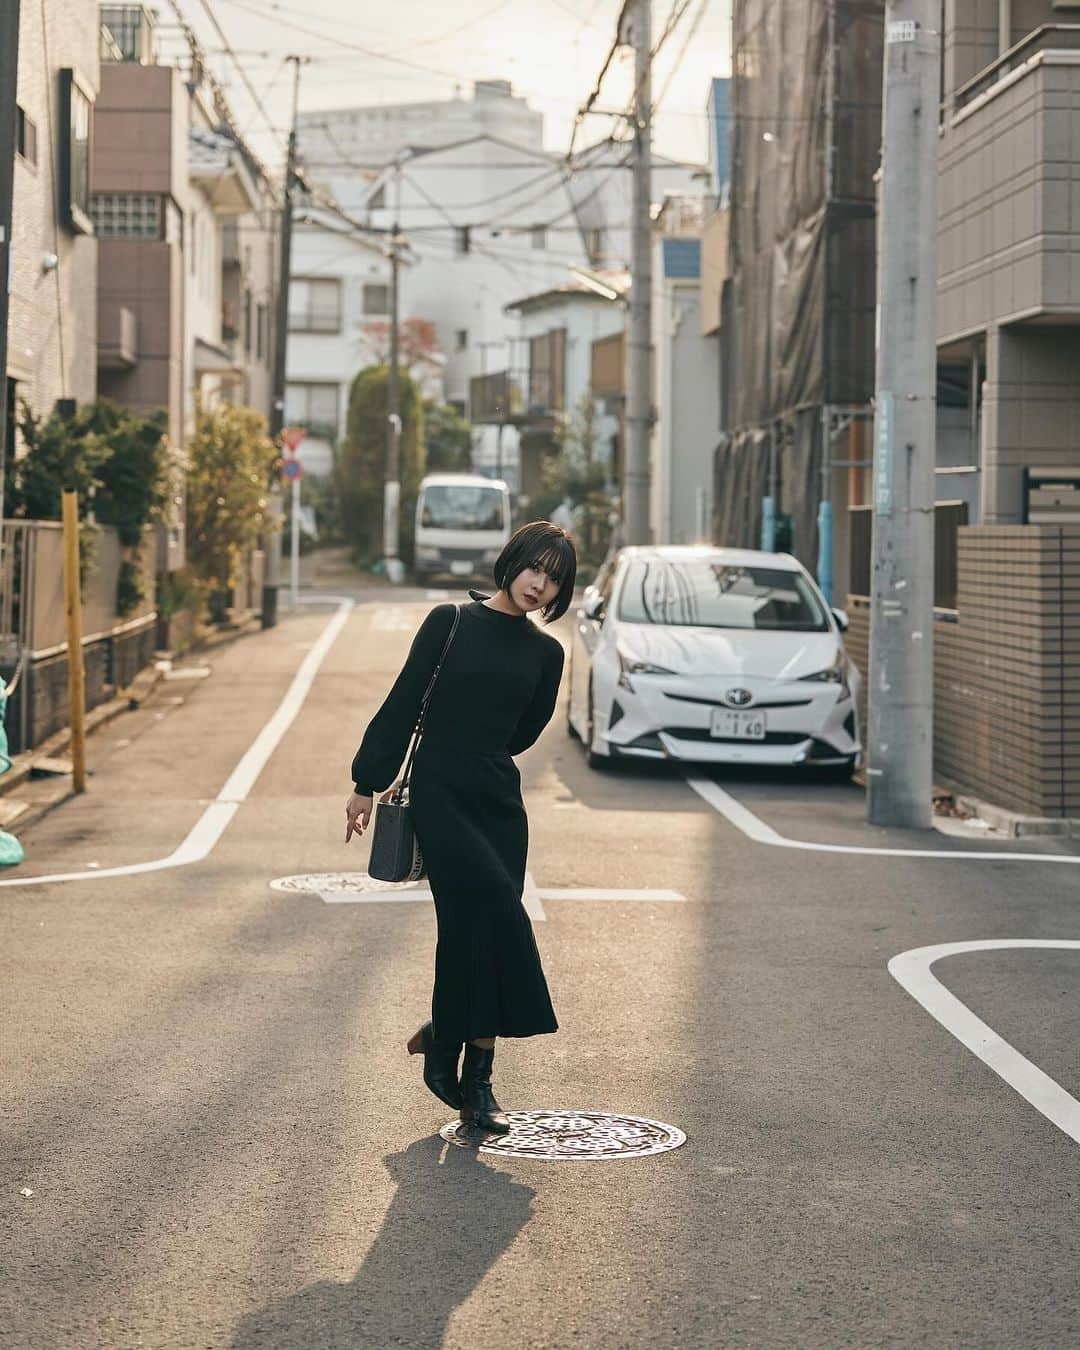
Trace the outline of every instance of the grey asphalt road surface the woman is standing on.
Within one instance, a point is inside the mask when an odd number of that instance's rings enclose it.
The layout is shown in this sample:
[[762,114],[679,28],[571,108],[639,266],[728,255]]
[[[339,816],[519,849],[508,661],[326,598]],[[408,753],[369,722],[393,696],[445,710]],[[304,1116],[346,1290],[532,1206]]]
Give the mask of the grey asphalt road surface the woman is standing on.
[[[544,902],[562,1027],[502,1042],[497,1091],[687,1142],[558,1164],[448,1146],[404,1050],[429,907],[270,888],[364,865],[343,845],[348,760],[432,601],[359,599],[201,861],[93,875],[205,818],[333,606],[161,686],[23,840],[20,875],[89,875],[0,888],[0,1345],[1080,1343],[1080,1143],[887,969],[934,944],[1080,940],[1068,845],[957,859],[1008,846],[871,829],[853,787],[707,775],[782,837],[942,856],[770,846],[676,770],[590,774],[560,709],[521,761],[537,886],[686,900]],[[1080,950],[934,973],[1080,1096]]]

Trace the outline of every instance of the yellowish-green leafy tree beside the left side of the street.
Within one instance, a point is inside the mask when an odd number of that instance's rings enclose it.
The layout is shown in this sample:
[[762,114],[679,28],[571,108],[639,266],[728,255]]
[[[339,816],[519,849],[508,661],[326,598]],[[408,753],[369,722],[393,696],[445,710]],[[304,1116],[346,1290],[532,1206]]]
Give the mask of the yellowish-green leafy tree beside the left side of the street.
[[196,408],[188,446],[188,559],[217,620],[243,558],[271,529],[266,485],[279,458],[266,418],[252,408]]

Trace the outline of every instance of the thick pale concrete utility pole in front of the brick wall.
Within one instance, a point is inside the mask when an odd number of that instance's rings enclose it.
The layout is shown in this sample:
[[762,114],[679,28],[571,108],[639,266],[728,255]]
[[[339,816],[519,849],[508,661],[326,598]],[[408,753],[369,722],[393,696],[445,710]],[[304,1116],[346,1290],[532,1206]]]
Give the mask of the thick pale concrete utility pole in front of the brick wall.
[[940,16],[886,4],[868,813],[909,829],[932,822]]

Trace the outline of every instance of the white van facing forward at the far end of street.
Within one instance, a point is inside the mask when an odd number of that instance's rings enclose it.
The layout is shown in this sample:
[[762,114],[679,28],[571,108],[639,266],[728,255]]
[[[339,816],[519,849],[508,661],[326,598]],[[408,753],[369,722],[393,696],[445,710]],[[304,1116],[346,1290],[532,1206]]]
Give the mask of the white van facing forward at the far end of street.
[[428,474],[416,500],[417,578],[486,576],[510,537],[510,489],[501,478]]

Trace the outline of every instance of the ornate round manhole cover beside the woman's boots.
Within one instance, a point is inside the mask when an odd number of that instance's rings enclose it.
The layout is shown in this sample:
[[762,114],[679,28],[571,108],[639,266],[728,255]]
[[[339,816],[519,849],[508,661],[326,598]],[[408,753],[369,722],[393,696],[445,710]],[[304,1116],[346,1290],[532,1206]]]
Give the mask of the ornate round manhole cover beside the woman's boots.
[[508,1111],[509,1134],[483,1134],[460,1120],[439,1131],[450,1143],[510,1158],[544,1158],[548,1162],[589,1162],[610,1158],[647,1158],[686,1143],[674,1125],[640,1115],[609,1115],[606,1111]]

